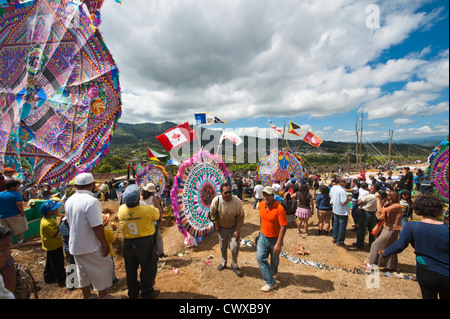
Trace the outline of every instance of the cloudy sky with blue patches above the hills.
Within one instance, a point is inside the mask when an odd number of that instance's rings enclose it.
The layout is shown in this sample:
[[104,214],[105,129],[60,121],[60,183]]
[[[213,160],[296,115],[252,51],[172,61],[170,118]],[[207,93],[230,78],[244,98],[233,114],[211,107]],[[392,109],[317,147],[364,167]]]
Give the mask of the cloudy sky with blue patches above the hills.
[[209,112],[355,141],[363,112],[366,141],[449,132],[448,1],[110,0],[102,21],[123,123]]

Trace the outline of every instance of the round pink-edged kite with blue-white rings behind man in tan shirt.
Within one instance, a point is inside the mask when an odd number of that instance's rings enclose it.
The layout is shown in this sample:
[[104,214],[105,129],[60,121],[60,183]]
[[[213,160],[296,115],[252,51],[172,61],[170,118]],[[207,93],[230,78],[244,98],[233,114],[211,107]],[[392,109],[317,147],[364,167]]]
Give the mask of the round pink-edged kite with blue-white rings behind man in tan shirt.
[[231,182],[231,176],[220,156],[200,150],[181,164],[171,199],[178,228],[187,245],[196,245],[214,230],[210,206],[224,182]]

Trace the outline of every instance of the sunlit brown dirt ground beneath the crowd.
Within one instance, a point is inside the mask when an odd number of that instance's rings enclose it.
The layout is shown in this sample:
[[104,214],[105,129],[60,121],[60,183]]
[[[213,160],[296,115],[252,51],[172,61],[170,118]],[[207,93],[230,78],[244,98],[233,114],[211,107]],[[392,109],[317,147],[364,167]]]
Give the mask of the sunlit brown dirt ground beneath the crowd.
[[[259,231],[259,213],[252,208],[252,199],[244,198],[246,213],[245,225],[241,238],[252,240]],[[117,201],[102,202],[104,208],[109,208],[115,214],[112,221],[117,220]],[[356,232],[352,231],[353,221],[349,218],[345,243],[351,246],[356,241]],[[367,261],[369,254],[368,236],[363,251],[354,248],[338,247],[331,241],[331,236],[316,235],[318,224],[314,215],[309,222],[309,234],[298,234],[296,228],[287,230],[283,251],[294,257],[327,264],[331,270],[317,269],[310,265],[298,264],[280,257],[278,288],[270,293],[264,293],[260,288],[264,285],[261,272],[256,261],[256,250],[241,246],[238,262],[244,276],[237,277],[227,268],[219,272],[216,268],[220,263],[220,250],[216,232],[208,235],[197,247],[187,248],[184,237],[178,231],[174,221],[164,220],[162,235],[165,254],[158,264],[155,288],[161,291],[157,299],[420,299],[421,293],[416,281],[411,279],[379,276],[378,285],[372,279],[374,276],[358,274],[351,271]],[[39,238],[30,239],[39,240]],[[301,241],[310,255],[294,255],[297,243]],[[117,297],[127,298],[125,267],[122,249],[123,238],[118,238],[113,244],[115,272],[119,278],[116,288],[110,293]],[[45,251],[39,244],[14,247],[12,254],[16,262],[25,264],[31,270],[38,286],[39,299],[81,299],[78,289],[68,290],[56,284],[47,285],[43,282],[45,266]],[[231,259],[229,253],[229,260]],[[229,261],[230,263],[230,261]],[[414,276],[415,255],[413,248],[408,247],[399,255],[399,272]],[[178,272],[177,272],[178,270]],[[381,272],[381,274],[384,274]],[[371,279],[372,278],[372,279]],[[371,281],[372,280],[372,281]],[[372,283],[372,284],[371,284]]]

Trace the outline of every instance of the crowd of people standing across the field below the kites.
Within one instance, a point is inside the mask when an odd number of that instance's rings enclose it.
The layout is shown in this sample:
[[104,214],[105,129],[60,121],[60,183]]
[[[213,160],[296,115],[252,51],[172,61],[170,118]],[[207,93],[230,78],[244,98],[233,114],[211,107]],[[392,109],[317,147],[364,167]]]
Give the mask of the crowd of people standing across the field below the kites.
[[[253,200],[253,209],[260,215],[255,247],[263,292],[277,287],[279,256],[287,228],[297,228],[302,236],[311,235],[309,220],[316,213],[319,221],[316,235],[330,236],[337,246],[364,249],[369,236],[369,259],[360,265],[369,271],[375,267],[398,270],[397,255],[411,244],[417,255],[417,280],[423,298],[448,298],[448,214],[444,222],[440,220],[443,206],[439,198],[430,194],[429,177],[424,172],[417,171],[416,179],[409,167],[403,170],[405,174],[400,172],[396,180],[392,179],[391,171],[387,178],[381,172],[366,178],[363,171],[359,176],[331,172],[323,179],[318,174],[305,174],[301,180],[292,175],[270,186],[263,186],[251,176],[222,184],[220,195],[213,199],[210,208],[221,251],[218,271],[227,267],[229,247],[231,269],[239,277],[245,274],[238,265],[238,253],[240,232],[245,224],[243,198],[247,197]],[[43,216],[40,236],[47,253],[45,283],[80,288],[85,299],[113,298],[108,288],[118,279],[111,244],[117,238],[118,227],[108,222],[111,212],[103,210],[100,200],[117,199],[121,204],[117,216],[124,237],[128,297],[158,296],[159,291],[153,286],[157,262],[165,257],[159,224],[163,207],[170,204],[166,201],[166,190],[159,198],[151,183],[142,188],[114,180],[96,185],[92,174],[83,173],[71,185],[49,188],[61,200],[44,198],[44,192],[27,191],[28,188],[21,192],[23,184],[12,178],[10,170],[4,171],[0,181],[4,188],[0,191],[0,297],[20,297],[10,246],[13,234],[19,245],[24,242],[27,220],[23,203],[35,199],[30,198],[34,193],[40,194],[37,198],[48,199],[40,207]],[[170,191],[170,184],[168,187]],[[63,204],[65,214],[57,222],[55,217]],[[423,218],[413,221],[413,211]],[[350,217],[357,236],[348,245]]]

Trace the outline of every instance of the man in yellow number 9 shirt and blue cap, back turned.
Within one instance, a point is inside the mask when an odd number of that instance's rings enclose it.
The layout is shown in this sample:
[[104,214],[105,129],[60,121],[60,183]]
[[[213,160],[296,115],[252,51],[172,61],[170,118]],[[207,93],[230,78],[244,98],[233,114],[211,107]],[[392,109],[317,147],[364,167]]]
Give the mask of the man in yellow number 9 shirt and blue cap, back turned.
[[[119,222],[124,236],[123,253],[127,277],[128,297],[153,299],[159,290],[153,288],[157,272],[155,225],[160,218],[157,208],[140,205],[139,187],[131,184],[122,194],[123,205],[119,207]],[[138,268],[141,267],[138,281]]]

